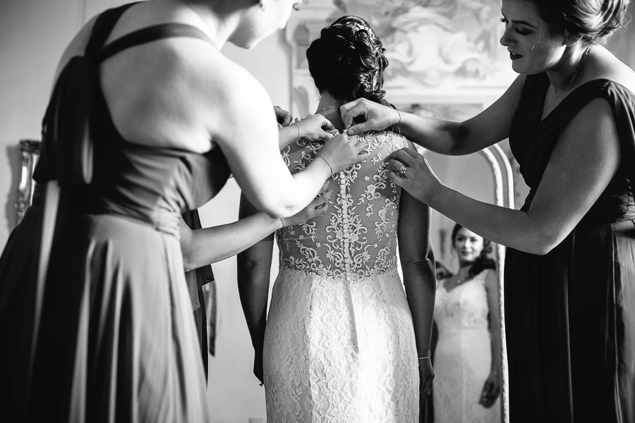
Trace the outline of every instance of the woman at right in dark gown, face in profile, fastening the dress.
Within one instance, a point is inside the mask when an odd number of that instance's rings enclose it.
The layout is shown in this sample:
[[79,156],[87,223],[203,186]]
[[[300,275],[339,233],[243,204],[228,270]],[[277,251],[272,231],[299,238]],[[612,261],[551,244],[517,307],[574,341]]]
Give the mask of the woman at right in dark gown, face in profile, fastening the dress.
[[601,45],[628,1],[503,0],[501,44],[521,75],[478,116],[449,122],[343,106],[351,133],[399,125],[442,154],[509,137],[531,188],[521,210],[444,186],[413,149],[392,180],[506,245],[512,422],[635,422],[635,73]]

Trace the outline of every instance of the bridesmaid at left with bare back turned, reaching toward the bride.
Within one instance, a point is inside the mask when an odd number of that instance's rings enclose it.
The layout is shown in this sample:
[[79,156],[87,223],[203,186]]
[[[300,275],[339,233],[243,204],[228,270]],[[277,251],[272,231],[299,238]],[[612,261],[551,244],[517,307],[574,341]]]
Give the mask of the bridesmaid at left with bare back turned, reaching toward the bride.
[[126,4],[69,44],[33,204],[0,257],[3,422],[210,421],[180,215],[231,171],[263,212],[289,216],[364,159],[341,136],[287,170],[264,89],[219,52],[253,47],[297,1],[266,3]]

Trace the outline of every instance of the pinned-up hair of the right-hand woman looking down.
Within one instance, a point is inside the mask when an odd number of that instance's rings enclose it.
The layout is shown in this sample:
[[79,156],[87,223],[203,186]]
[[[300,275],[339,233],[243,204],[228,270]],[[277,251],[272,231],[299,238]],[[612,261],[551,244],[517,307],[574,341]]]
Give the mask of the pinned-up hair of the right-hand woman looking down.
[[533,0],[554,34],[574,42],[603,44],[627,24],[629,0]]

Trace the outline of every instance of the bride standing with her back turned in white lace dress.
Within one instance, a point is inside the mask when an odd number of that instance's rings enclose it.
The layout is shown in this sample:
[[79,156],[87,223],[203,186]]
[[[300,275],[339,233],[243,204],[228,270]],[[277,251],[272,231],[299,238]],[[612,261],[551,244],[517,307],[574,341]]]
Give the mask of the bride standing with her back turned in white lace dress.
[[[344,128],[339,106],[352,99],[388,104],[384,49],[365,20],[339,18],[310,44],[307,58],[320,92],[316,113],[335,128]],[[265,386],[270,423],[418,422],[420,391],[433,379],[429,209],[390,182],[384,161],[411,142],[390,130],[360,141],[369,158],[332,176],[329,211],[277,231],[280,270],[266,323],[273,235],[238,255],[254,373]],[[296,173],[321,147],[298,141],[282,154]],[[243,199],[241,214],[250,212]]]

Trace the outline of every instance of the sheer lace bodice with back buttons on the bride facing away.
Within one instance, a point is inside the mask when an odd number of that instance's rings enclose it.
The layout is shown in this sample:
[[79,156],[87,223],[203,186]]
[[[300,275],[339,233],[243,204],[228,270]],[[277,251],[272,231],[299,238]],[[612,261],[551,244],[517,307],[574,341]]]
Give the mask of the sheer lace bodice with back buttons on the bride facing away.
[[[397,266],[400,188],[389,178],[384,159],[406,138],[390,131],[365,133],[368,159],[330,180],[334,195],[317,219],[277,233],[280,265],[339,278],[347,283]],[[298,141],[282,151],[292,173],[315,159],[319,142]]]

